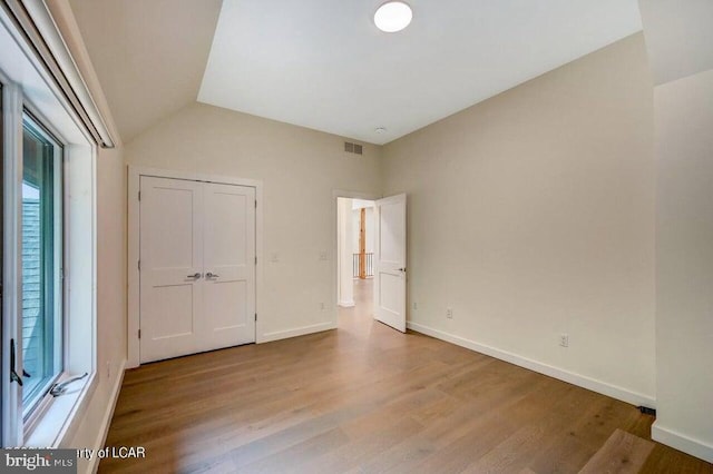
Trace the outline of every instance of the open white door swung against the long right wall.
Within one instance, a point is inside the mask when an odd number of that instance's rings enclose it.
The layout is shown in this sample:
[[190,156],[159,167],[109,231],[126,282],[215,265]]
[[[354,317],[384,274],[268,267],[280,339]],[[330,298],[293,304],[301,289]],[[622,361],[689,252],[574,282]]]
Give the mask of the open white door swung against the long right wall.
[[406,195],[374,203],[374,317],[406,333]]

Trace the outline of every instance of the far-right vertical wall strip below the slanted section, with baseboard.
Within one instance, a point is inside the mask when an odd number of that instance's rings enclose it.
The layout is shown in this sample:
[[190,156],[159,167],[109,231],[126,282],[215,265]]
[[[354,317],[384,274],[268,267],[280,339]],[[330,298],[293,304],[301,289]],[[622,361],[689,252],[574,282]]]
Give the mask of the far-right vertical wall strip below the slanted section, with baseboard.
[[656,87],[654,438],[713,462],[713,70]]

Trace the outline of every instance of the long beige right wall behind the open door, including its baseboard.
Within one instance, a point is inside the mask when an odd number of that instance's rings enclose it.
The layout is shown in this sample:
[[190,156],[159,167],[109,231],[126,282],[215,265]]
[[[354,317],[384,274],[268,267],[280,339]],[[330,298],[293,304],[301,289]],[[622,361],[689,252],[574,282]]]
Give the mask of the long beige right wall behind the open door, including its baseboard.
[[409,196],[411,327],[655,404],[641,33],[387,145],[383,172]]

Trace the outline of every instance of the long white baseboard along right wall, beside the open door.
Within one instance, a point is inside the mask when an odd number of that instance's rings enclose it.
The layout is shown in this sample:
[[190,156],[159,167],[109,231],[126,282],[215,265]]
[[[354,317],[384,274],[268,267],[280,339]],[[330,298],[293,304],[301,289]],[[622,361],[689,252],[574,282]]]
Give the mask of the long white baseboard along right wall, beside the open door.
[[436,337],[437,339],[446,340],[448,343],[456,344],[457,346],[466,347],[477,353],[489,355],[491,357],[509,362],[510,364],[515,364],[520,367],[529,368],[530,371],[558,378],[569,384],[577,385],[606,396],[611,396],[612,398],[631,403],[632,405],[643,405],[649,408],[656,407],[656,398],[645,394],[632,392],[616,385],[607,384],[606,382],[587,377],[585,375],[579,375],[574,372],[565,371],[548,364],[543,364],[541,362],[533,361],[530,358],[522,357],[507,350],[501,350],[495,347],[487,346],[485,344],[476,343],[475,340],[466,339],[463,337],[456,336],[453,334],[446,333],[439,329],[433,329],[432,327],[423,326],[418,323],[408,322],[407,327],[409,329],[416,330],[417,333],[422,333],[427,336]]

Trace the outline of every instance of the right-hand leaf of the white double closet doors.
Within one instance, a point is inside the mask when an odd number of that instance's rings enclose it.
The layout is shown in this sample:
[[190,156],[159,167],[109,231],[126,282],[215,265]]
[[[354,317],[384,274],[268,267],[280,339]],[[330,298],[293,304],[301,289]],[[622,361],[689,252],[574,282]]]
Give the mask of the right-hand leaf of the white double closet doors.
[[255,188],[205,185],[204,347],[255,342]]

